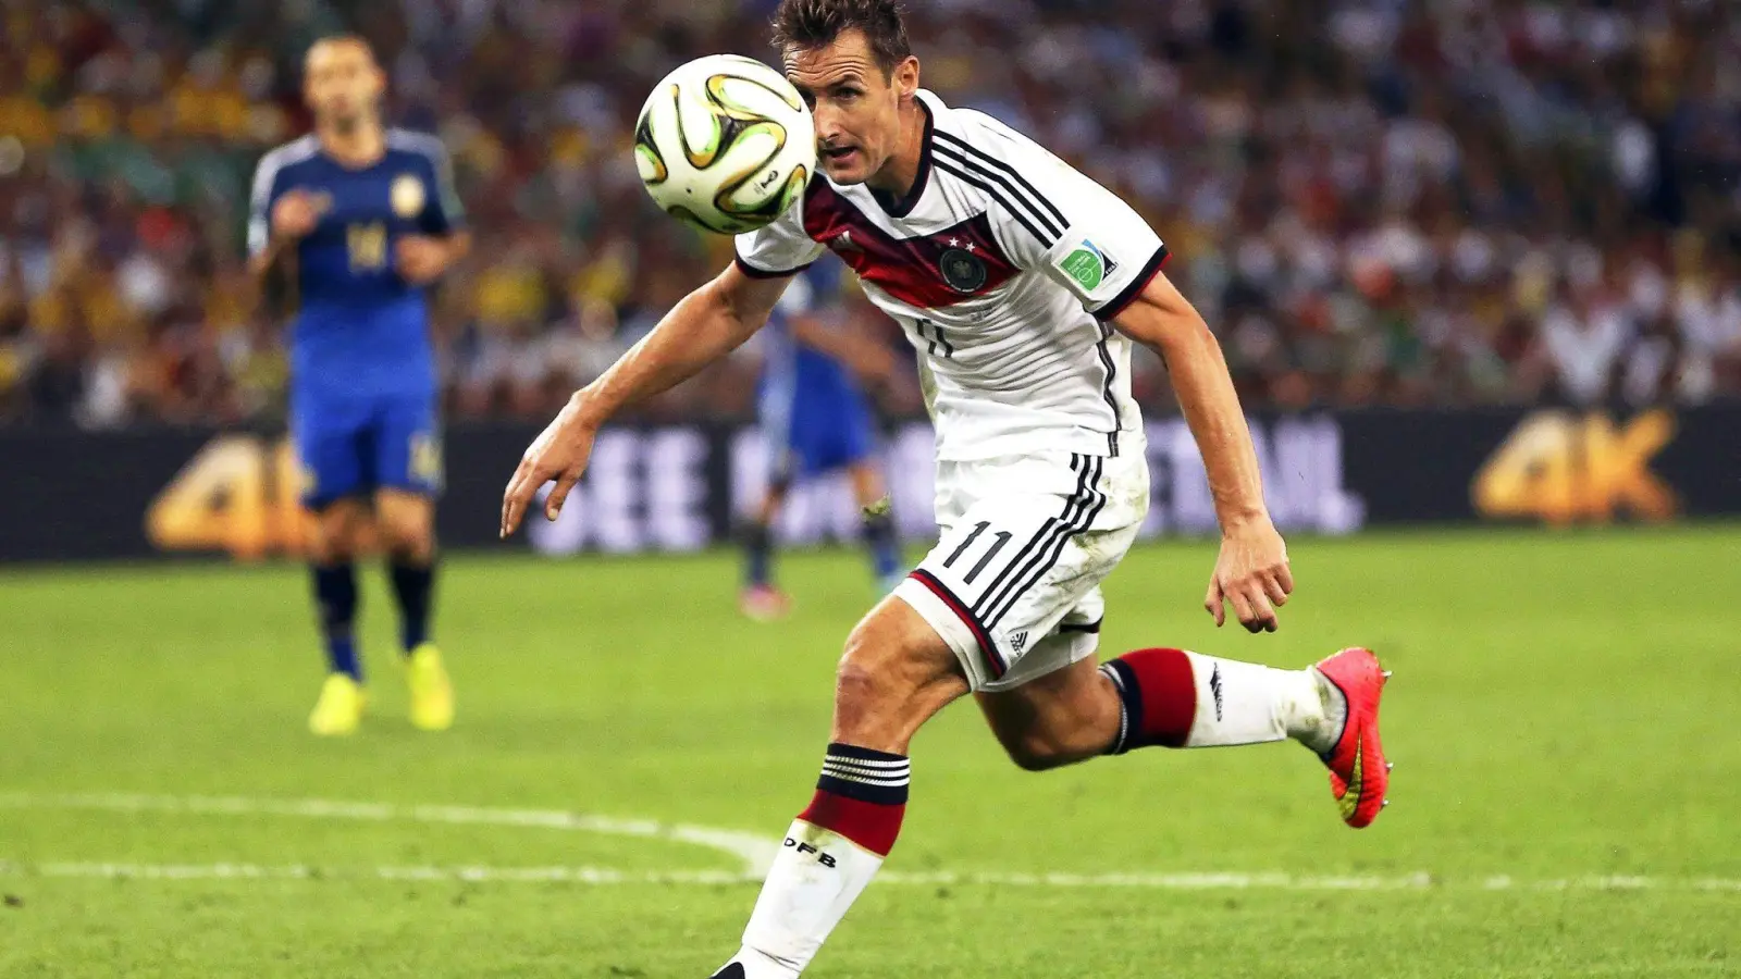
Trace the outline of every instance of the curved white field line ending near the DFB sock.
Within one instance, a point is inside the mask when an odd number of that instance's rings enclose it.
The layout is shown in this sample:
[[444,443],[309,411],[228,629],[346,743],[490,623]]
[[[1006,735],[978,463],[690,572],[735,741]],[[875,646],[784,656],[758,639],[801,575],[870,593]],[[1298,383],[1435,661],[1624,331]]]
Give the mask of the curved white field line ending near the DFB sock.
[[568,833],[639,836],[707,847],[742,861],[743,873],[764,874],[780,841],[754,833],[709,826],[663,824],[649,819],[613,819],[548,808],[496,808],[468,805],[393,805],[334,800],[251,800],[237,796],[150,796],[134,793],[0,793],[0,808],[73,808],[99,812],[164,812],[179,815],[284,815],[362,822],[440,822],[451,826],[526,826]]

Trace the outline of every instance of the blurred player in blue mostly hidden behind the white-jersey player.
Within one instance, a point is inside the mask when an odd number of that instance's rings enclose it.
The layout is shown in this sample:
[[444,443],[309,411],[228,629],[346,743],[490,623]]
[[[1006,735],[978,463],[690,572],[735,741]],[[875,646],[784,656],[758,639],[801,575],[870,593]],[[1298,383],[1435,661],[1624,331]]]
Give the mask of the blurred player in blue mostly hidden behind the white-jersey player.
[[766,622],[790,601],[773,584],[773,521],[797,479],[846,470],[864,512],[864,540],[877,587],[900,584],[900,549],[883,472],[876,462],[870,409],[855,375],[876,380],[893,369],[893,354],[862,336],[832,329],[817,315],[839,291],[841,265],[825,261],[792,279],[761,331],[763,378],[757,399],[768,439],[768,495],[743,526],[743,615]]

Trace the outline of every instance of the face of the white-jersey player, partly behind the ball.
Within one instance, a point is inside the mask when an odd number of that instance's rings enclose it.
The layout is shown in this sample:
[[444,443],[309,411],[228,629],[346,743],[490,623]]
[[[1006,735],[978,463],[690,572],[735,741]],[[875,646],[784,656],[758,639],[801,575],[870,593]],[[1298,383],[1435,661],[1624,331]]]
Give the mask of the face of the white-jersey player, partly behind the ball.
[[834,183],[870,179],[900,148],[900,103],[919,89],[919,61],[884,73],[864,31],[785,52],[785,77],[817,118],[817,157]]

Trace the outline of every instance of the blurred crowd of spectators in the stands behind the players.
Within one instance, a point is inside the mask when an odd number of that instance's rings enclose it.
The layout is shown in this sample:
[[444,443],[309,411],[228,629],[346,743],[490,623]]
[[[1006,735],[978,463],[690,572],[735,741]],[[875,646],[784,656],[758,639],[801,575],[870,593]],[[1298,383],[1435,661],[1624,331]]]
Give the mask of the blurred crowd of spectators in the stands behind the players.
[[[0,422],[284,411],[247,181],[339,30],[440,134],[481,247],[435,296],[451,416],[541,416],[729,256],[629,153],[682,59],[773,59],[773,0],[9,0]],[[1729,0],[909,0],[924,84],[1121,192],[1254,406],[1741,394]],[[851,329],[897,341],[867,305]],[[747,409],[754,350],[653,406]],[[1166,409],[1149,357],[1139,397]],[[907,380],[879,392],[918,409]]]

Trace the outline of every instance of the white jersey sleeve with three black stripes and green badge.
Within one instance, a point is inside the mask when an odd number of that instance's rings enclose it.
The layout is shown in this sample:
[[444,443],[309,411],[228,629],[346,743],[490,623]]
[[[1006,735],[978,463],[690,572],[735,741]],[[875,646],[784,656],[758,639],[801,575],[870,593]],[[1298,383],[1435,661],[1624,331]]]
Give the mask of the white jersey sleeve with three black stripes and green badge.
[[991,152],[938,141],[938,165],[973,176],[987,192],[999,218],[994,228],[1018,267],[1045,273],[1104,321],[1125,312],[1166,261],[1160,235],[1111,190],[991,125],[984,141]]

